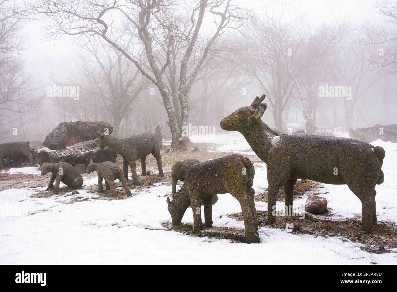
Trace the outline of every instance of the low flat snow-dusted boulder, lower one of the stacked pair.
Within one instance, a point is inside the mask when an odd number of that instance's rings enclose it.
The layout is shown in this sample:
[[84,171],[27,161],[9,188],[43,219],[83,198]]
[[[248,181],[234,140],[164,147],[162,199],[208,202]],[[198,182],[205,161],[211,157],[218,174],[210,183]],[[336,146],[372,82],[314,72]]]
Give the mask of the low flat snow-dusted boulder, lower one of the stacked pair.
[[117,153],[108,147],[100,149],[98,139],[83,141],[61,150],[51,150],[42,145],[31,145],[31,149],[34,152],[33,160],[38,164],[63,161],[75,166],[76,164],[88,165],[90,159],[95,163],[100,163],[104,161],[116,162],[117,158]]

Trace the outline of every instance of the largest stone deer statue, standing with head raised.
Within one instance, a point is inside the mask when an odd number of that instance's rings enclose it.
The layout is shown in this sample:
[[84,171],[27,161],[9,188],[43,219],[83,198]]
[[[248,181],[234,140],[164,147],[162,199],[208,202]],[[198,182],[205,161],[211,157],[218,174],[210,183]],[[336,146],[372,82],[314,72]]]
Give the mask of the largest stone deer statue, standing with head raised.
[[[272,131],[261,117],[267,108],[266,95],[251,106],[239,108],[220,122],[226,131],[243,134],[256,155],[267,165],[268,219],[273,223],[279,188],[284,186],[285,209],[292,209],[297,179],[324,184],[347,184],[362,204],[362,229],[372,232],[376,224],[375,186],[382,184],[385,151],[361,141],[330,136],[281,135]],[[291,210],[289,209],[289,210]]]

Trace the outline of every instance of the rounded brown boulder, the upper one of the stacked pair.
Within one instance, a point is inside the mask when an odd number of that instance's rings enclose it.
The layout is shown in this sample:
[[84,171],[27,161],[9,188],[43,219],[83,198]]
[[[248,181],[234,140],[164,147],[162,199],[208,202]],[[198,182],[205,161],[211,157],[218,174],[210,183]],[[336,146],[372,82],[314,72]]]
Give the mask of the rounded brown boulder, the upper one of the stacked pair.
[[[68,146],[83,141],[91,141],[97,137],[96,132],[103,133],[105,128],[109,129],[109,134],[113,130],[112,126],[106,122],[64,122],[60,123],[52,130],[43,142],[43,145],[52,150],[65,149]],[[58,137],[55,138],[54,137]],[[53,141],[53,144],[51,142]],[[57,144],[58,143],[58,144]]]

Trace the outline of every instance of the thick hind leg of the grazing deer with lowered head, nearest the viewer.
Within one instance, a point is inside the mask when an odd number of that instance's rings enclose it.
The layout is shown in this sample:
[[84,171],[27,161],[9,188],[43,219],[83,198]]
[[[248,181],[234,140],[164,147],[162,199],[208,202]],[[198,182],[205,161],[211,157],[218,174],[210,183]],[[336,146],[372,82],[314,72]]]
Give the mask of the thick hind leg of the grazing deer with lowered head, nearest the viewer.
[[247,191],[239,194],[232,194],[241,206],[245,226],[245,243],[260,243],[258,234],[258,219],[256,217],[254,192],[250,195]]

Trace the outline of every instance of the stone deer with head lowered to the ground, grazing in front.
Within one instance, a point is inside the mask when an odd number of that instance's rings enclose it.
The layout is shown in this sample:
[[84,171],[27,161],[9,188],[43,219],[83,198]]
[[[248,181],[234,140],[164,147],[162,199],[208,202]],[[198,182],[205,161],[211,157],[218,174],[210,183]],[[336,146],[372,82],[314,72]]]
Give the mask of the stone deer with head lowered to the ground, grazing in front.
[[230,193],[243,212],[245,242],[258,243],[258,223],[254,202],[255,191],[251,188],[255,170],[251,161],[241,155],[229,155],[194,164],[185,176],[185,182],[173,200],[167,198],[172,224],[181,224],[189,205],[193,211],[193,232],[203,229],[201,205],[204,206],[204,224],[212,226],[212,196]]

